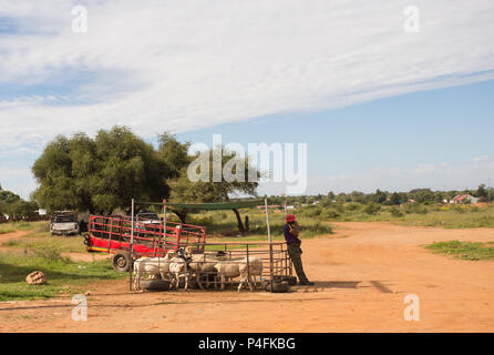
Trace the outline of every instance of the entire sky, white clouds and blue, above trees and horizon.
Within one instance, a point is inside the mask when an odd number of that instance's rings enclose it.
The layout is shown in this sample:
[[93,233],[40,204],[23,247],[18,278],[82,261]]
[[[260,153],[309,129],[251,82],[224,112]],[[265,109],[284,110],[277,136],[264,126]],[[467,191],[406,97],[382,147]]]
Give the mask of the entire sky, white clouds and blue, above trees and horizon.
[[[307,143],[307,193],[494,179],[494,3],[0,0],[0,183],[58,134]],[[261,193],[281,193],[282,184]]]

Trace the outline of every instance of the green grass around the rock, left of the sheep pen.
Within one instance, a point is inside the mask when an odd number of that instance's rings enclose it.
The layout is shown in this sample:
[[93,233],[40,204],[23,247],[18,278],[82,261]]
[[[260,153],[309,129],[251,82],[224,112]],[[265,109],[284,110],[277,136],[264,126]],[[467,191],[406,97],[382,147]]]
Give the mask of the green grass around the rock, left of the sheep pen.
[[[45,285],[29,285],[25,276],[42,271]],[[95,281],[128,277],[113,271],[110,261],[73,263],[56,252],[24,254],[0,253],[0,302],[49,298],[63,291],[68,294],[85,292],[84,285]]]

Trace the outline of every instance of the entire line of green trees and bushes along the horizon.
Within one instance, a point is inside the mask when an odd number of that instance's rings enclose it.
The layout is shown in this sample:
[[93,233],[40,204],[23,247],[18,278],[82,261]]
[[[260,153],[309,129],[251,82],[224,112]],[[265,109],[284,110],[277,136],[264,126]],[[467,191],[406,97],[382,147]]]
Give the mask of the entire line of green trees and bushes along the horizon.
[[[32,173],[38,189],[31,201],[24,201],[12,192],[0,187],[0,214],[30,216],[38,207],[53,212],[74,210],[92,214],[112,214],[116,211],[128,213],[131,199],[138,201],[162,201],[177,203],[228,202],[234,196],[256,196],[257,182],[192,182],[187,178],[187,168],[197,159],[189,155],[191,144],[182,143],[174,135],[163,133],[154,146],[135,135],[125,126],[100,130],[94,138],[76,133],[71,138],[60,135],[51,141],[34,162]],[[235,156],[224,146],[209,151],[222,151],[222,164],[233,166],[231,171],[245,169],[248,176],[251,169],[248,158]],[[231,158],[234,156],[234,159]],[[260,172],[255,172],[260,176]],[[209,170],[209,174],[213,174]],[[210,176],[212,178],[212,176]],[[247,180],[247,179],[246,179]],[[494,197],[492,189],[485,184],[474,191],[432,191],[415,189],[409,192],[375,191],[374,193],[351,193],[302,196],[270,196],[271,204],[288,205],[311,204],[318,202],[322,207],[333,203],[359,203],[364,205],[399,205],[410,200],[422,204],[441,203],[455,195],[469,193],[477,197]],[[373,206],[372,209],[377,209]],[[186,210],[173,212],[186,222]],[[244,230],[239,211],[233,211],[238,227]]]

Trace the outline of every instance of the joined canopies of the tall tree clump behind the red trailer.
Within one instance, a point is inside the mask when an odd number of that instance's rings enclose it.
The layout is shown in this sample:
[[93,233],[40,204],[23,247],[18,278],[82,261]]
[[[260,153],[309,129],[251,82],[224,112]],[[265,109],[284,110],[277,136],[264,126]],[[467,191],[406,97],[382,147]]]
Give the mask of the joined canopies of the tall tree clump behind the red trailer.
[[[94,139],[85,133],[61,135],[45,146],[32,166],[39,183],[32,196],[49,211],[111,214],[127,210],[131,199],[162,201],[169,196],[174,202],[204,203],[227,202],[238,193],[256,194],[258,182],[249,182],[248,176],[260,174],[249,166],[248,158],[224,148],[212,149],[206,165],[213,166],[213,155],[219,153],[222,172],[244,175],[245,181],[223,175],[215,182],[208,169],[208,179],[195,182],[189,179],[189,166],[200,153],[189,156],[188,149],[188,142],[181,143],[168,133],[158,135],[155,149],[125,126],[100,130]],[[185,221],[186,211],[174,212]]]

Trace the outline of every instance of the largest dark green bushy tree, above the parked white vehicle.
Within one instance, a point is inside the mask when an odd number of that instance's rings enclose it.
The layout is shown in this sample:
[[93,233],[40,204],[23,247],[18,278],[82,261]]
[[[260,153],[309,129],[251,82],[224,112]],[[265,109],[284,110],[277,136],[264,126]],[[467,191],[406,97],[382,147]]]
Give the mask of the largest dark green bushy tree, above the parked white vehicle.
[[58,136],[35,161],[33,197],[49,211],[111,214],[131,199],[161,201],[168,195],[169,165],[127,128],[101,130],[94,139]]

